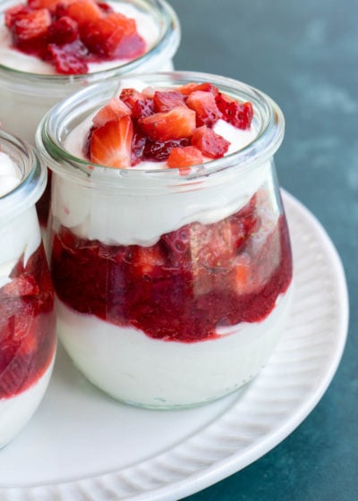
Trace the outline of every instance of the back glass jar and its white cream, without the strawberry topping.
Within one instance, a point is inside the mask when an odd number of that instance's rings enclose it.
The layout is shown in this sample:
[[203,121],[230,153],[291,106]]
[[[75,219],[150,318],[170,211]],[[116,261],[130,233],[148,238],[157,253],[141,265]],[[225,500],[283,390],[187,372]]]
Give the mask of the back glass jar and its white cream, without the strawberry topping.
[[[95,64],[86,74],[47,74],[36,57],[11,47],[4,26],[4,13],[24,0],[4,0],[0,6],[0,100],[1,123],[7,132],[34,143],[42,115],[56,102],[91,83],[133,72],[159,72],[173,67],[172,58],[180,43],[180,25],[166,0],[108,0],[115,11],[137,17],[148,51],[123,64],[121,61]],[[125,9],[125,10],[124,10]]]

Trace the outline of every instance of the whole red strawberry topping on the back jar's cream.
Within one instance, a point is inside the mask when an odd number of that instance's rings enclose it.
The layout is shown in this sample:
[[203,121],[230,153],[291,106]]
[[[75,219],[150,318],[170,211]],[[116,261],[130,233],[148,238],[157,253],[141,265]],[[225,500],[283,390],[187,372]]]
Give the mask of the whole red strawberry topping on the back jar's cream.
[[132,60],[147,50],[136,21],[96,0],[27,0],[5,12],[13,47],[52,64],[57,73],[89,64]]

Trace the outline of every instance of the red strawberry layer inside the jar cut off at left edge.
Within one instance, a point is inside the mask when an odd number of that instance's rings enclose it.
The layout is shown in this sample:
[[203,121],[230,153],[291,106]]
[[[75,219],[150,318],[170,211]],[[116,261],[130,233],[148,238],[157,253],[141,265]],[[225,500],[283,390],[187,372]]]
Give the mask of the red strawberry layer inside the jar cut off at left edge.
[[10,277],[0,289],[0,399],[35,384],[55,352],[54,293],[42,245]]

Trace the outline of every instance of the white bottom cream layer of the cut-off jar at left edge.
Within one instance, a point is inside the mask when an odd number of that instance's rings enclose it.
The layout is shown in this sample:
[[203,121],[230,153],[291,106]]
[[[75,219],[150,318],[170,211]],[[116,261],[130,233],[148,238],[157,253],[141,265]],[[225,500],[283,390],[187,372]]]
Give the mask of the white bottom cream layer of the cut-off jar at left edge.
[[45,395],[54,367],[55,355],[37,383],[20,395],[0,399],[0,448],[6,446],[30,421]]

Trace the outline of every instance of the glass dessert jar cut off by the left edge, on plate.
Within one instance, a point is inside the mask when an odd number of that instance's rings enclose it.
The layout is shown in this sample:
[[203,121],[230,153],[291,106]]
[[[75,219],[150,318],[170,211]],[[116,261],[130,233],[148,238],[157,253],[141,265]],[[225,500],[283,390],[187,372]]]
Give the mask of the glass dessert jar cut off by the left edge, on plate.
[[0,183],[9,163],[19,179],[0,196],[1,447],[30,420],[45,394],[56,337],[54,291],[35,209],[46,168],[30,146],[5,132],[0,149]]

